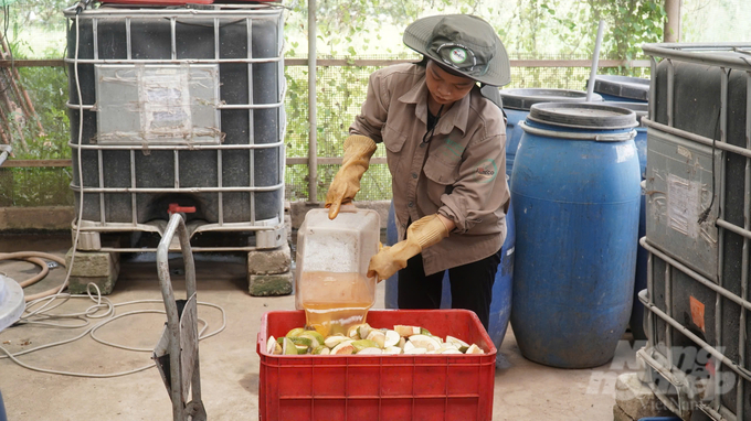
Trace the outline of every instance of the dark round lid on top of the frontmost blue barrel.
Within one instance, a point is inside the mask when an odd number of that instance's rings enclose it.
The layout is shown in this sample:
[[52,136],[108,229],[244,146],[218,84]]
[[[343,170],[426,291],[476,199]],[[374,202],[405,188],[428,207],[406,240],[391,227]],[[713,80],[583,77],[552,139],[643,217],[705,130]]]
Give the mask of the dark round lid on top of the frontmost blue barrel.
[[634,111],[592,102],[535,104],[527,118],[546,125],[578,129],[617,130],[637,126]]

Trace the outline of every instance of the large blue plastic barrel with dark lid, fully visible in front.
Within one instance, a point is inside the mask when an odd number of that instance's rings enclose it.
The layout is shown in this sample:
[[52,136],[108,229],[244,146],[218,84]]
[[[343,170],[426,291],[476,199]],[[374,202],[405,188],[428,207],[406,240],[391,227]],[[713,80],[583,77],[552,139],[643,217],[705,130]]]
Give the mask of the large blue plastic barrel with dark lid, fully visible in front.
[[512,173],[511,326],[521,354],[554,367],[609,361],[631,314],[639,207],[633,111],[538,104]]

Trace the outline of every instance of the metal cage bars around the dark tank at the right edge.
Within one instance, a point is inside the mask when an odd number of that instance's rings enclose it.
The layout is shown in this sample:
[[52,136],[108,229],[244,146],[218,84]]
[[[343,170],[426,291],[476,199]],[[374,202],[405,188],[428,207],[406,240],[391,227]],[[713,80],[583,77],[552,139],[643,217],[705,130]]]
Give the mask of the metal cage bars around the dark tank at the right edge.
[[[715,182],[716,192],[716,203],[711,212],[708,213],[708,220],[715,229],[717,229],[717,250],[711,250],[711,253],[716,256],[709,256],[712,262],[710,267],[700,267],[701,262],[691,261],[686,255],[681,255],[680,250],[691,251],[690,241],[684,241],[684,244],[669,244],[665,239],[660,239],[663,244],[655,242],[655,239],[649,238],[649,233],[647,236],[641,239],[641,244],[644,248],[649,251],[648,263],[647,263],[647,290],[639,293],[639,300],[644,303],[647,309],[646,314],[646,328],[648,345],[638,352],[639,358],[646,364],[645,374],[650,381],[649,386],[655,391],[655,395],[659,400],[671,411],[679,414],[683,419],[688,420],[691,417],[691,411],[701,410],[706,414],[710,415],[716,420],[743,420],[748,419],[751,414],[744,408],[744,387],[748,389],[751,385],[751,371],[745,368],[751,361],[748,361],[747,356],[747,324],[749,323],[749,315],[747,312],[751,311],[751,302],[749,301],[749,263],[751,262],[751,257],[749,256],[749,250],[751,247],[751,43],[699,43],[699,44],[675,44],[675,43],[664,43],[664,44],[645,44],[642,46],[644,52],[649,56],[652,62],[652,83],[649,90],[649,115],[648,119],[643,120],[644,125],[647,127],[648,131],[653,136],[659,136],[660,138],[673,138],[680,141],[689,142],[697,145],[698,148],[711,149],[711,155],[716,163],[719,163],[719,168],[715,172],[719,172],[719,176]],[[739,53],[737,56],[732,54],[718,55],[718,54],[702,54],[705,53]],[[745,55],[747,60],[741,58]],[[666,76],[666,87],[667,90],[667,101],[666,101],[666,112],[667,112],[667,125],[657,122],[657,65],[658,58],[667,61],[667,76]],[[720,139],[713,140],[711,138],[700,136],[697,133],[683,130],[675,127],[675,106],[676,106],[676,87],[675,87],[675,64],[674,62],[692,63],[707,66],[715,66],[721,69],[721,93],[720,93],[720,104],[721,108],[719,111],[719,125],[720,125]],[[730,72],[741,72],[745,77],[747,94],[745,94],[745,148],[733,145],[728,143],[728,97],[729,97],[729,75]],[[728,206],[728,198],[726,197],[726,175],[727,175],[727,156],[729,153],[740,155],[745,159],[745,179],[743,188],[743,226],[738,226],[726,219],[724,209]],[[647,174],[649,177],[649,174]],[[718,190],[719,188],[719,190]],[[648,188],[647,188],[648,190]],[[649,192],[647,192],[649,194]],[[718,197],[719,196],[719,197]],[[698,224],[698,223],[697,223]],[[734,294],[729,290],[729,285],[723,284],[722,276],[722,262],[724,261],[726,250],[723,248],[723,237],[727,231],[734,233],[742,237],[742,261],[741,261],[741,276],[740,276],[740,295]],[[667,241],[667,242],[666,242]],[[677,250],[668,251],[665,247],[674,248]],[[696,252],[696,250],[692,250]],[[656,260],[664,262],[664,273],[655,273]],[[660,266],[662,268],[662,266]],[[664,279],[664,290],[657,290],[656,278]],[[707,291],[711,291],[715,295],[715,338],[716,342],[722,341],[722,330],[726,328],[728,323],[734,323],[724,317],[723,323],[723,312],[722,302],[727,300],[729,302],[736,303],[740,306],[740,324],[739,331],[739,359],[733,360],[729,358],[724,349],[718,349],[717,347],[704,341],[696,333],[691,332],[687,327],[687,323],[680,322],[679,314],[674,314],[674,290],[680,288],[680,284],[676,283],[676,277],[681,278],[686,282],[696,282],[695,285],[701,285],[706,288]],[[659,296],[663,295],[667,304],[663,304],[665,309],[660,309],[660,304],[657,302]],[[700,393],[698,393],[697,385],[699,380],[692,377],[690,374],[684,373],[681,369],[676,367],[678,361],[676,356],[674,356],[674,345],[679,347],[678,336],[681,338],[689,339],[694,346],[698,349],[702,349],[713,358],[716,358],[717,373],[720,373],[722,367],[726,367],[726,371],[732,373],[736,376],[736,403],[737,408],[730,409],[723,404],[721,401],[721,395],[712,393],[711,402],[702,401]],[[685,341],[684,341],[685,342]],[[733,350],[734,353],[734,350]],[[715,388],[721,387],[719,384],[721,381],[721,376],[713,377]],[[655,378],[666,380],[668,382],[668,389],[659,387],[655,382]],[[705,385],[706,386],[706,385]],[[666,390],[669,393],[666,393]],[[715,389],[721,390],[721,389]]]

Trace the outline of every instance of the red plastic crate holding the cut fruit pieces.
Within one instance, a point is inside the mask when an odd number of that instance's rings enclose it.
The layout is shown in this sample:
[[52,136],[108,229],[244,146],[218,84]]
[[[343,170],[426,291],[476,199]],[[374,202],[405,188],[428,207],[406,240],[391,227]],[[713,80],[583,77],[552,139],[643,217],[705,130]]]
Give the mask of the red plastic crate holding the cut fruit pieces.
[[477,344],[474,355],[269,355],[266,339],[305,325],[304,311],[261,319],[258,419],[263,421],[466,421],[493,419],[496,347],[467,310],[371,310],[368,323],[425,327]]

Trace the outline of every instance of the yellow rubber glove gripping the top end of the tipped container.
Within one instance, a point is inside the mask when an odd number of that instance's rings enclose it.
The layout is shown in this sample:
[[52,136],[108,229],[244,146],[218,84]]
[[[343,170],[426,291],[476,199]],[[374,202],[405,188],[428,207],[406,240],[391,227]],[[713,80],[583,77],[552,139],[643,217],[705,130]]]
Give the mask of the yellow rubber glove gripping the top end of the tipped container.
[[352,134],[345,140],[345,156],[341,168],[334,177],[326,194],[329,219],[339,215],[339,207],[350,203],[360,191],[360,179],[370,165],[370,156],[376,152],[376,142],[364,136]]

